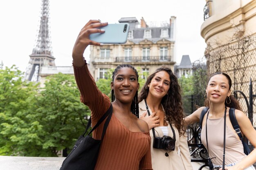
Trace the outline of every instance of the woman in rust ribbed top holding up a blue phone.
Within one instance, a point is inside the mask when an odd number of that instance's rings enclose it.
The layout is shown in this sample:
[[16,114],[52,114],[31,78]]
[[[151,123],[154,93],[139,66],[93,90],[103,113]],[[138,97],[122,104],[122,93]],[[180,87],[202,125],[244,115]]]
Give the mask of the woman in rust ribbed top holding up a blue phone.
[[[99,29],[108,23],[90,20],[80,31],[73,48],[73,66],[81,102],[91,110],[92,126],[110,107],[110,99],[101,93],[83,58],[85,48],[100,46],[89,39],[92,33],[104,33]],[[138,119],[138,73],[128,64],[117,66],[112,75],[111,93],[113,114],[101,143],[95,170],[152,170],[148,125]],[[137,117],[136,117],[137,115]],[[93,131],[93,138],[100,139],[103,123]]]

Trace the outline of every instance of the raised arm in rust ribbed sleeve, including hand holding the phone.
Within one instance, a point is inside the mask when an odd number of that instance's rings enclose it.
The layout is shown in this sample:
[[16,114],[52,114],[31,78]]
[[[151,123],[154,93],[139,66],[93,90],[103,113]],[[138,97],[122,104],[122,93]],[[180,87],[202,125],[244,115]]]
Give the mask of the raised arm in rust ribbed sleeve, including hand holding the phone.
[[[107,23],[101,23],[99,20],[90,20],[85,24],[83,29],[81,29],[72,52],[74,75],[81,94],[81,102],[89,106],[92,111],[93,124],[106,112],[106,110],[108,110],[110,100],[97,88],[83,58],[83,53],[89,44],[96,46],[100,45],[99,42],[91,41],[89,35],[91,33],[103,33],[104,31],[98,28],[106,25]],[[99,107],[99,105],[101,107]]]

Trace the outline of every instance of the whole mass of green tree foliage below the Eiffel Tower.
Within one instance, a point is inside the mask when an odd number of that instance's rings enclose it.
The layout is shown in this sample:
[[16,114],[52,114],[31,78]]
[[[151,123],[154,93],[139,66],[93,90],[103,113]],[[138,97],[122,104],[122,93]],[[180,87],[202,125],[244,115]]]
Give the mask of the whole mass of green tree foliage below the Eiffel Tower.
[[13,66],[0,70],[0,85],[0,155],[54,157],[83,133],[90,110],[74,76],[52,75],[38,88]]

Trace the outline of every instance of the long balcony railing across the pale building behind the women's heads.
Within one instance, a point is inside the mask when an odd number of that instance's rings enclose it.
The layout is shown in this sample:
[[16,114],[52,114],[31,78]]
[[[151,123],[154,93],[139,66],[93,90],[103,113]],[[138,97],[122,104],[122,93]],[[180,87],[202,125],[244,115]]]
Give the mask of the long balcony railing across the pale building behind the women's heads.
[[172,62],[171,56],[116,57],[116,62]]

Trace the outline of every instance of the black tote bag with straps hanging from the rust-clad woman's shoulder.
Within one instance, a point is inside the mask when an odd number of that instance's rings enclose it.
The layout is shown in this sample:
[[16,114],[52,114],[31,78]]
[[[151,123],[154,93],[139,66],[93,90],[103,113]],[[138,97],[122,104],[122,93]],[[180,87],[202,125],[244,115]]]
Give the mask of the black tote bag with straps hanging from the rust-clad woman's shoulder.
[[[86,126],[84,134],[81,135],[76,141],[76,144],[74,145],[72,151],[64,159],[60,170],[94,170],[94,167],[97,163],[101,141],[108,128],[112,112],[113,108],[112,104],[110,104],[110,108],[107,110],[107,112],[101,117],[101,119],[99,119],[99,121],[92,128],[89,134],[84,137],[85,133],[87,132],[88,128],[92,123],[91,118],[88,120],[88,124]],[[106,119],[106,117],[108,118]],[[103,127],[101,140],[93,139],[89,135],[101,124],[104,119],[106,119],[106,122]]]

